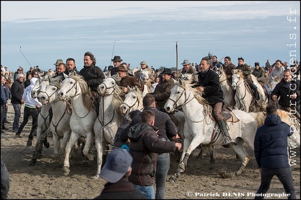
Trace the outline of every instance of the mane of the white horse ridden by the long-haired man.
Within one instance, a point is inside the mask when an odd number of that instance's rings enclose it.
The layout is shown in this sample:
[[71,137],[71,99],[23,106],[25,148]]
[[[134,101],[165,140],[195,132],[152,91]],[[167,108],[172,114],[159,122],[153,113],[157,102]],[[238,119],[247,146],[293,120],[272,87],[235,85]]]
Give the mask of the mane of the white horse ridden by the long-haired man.
[[90,109],[91,103],[93,101],[91,101],[90,88],[88,87],[88,84],[86,83],[84,78],[82,78],[82,76],[77,75],[76,73],[70,73],[68,77],[74,79],[77,83],[79,83],[79,87],[82,90],[82,97],[84,99],[84,107]]

